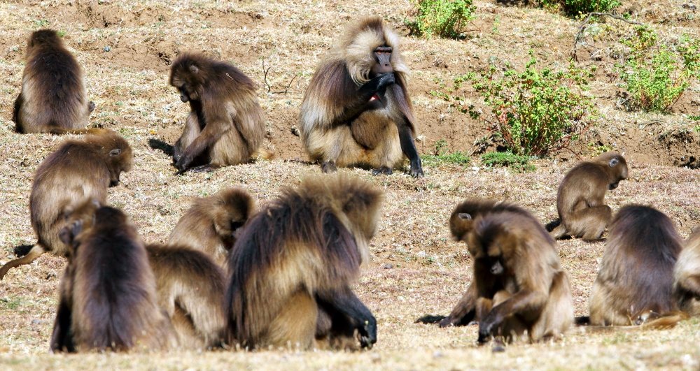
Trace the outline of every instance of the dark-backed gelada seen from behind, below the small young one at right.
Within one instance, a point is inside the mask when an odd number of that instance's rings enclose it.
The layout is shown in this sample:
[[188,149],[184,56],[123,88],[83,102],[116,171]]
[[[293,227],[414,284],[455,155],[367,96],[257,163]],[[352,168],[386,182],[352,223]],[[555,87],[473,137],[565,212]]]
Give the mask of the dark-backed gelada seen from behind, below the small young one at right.
[[591,291],[591,324],[629,326],[677,311],[673,267],[680,249],[680,236],[664,213],[642,205],[621,208]]

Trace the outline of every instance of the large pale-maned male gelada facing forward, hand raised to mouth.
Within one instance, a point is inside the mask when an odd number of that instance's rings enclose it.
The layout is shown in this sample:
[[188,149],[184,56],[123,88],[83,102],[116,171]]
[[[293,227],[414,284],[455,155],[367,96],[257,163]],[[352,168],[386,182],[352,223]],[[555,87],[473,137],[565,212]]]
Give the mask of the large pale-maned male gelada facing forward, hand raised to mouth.
[[324,173],[364,165],[391,174],[405,157],[423,176],[399,39],[381,17],[351,27],[318,66],[302,101],[301,136]]

